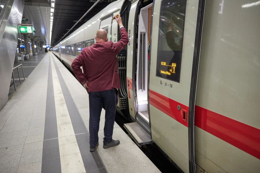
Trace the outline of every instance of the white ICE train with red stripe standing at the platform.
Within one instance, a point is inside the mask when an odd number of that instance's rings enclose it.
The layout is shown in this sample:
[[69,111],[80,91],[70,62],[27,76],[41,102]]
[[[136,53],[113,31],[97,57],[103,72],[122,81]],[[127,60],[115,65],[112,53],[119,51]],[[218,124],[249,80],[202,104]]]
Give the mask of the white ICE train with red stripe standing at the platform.
[[135,142],[154,143],[180,172],[259,172],[260,3],[118,0],[51,51],[71,68],[96,30],[120,40],[117,14],[129,36],[117,111]]

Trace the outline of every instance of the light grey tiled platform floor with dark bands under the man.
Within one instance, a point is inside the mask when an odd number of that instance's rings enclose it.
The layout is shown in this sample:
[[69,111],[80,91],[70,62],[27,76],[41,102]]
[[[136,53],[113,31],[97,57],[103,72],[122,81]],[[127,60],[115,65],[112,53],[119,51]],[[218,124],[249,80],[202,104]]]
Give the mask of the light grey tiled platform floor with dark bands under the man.
[[160,172],[115,123],[120,145],[89,152],[89,103],[83,86],[50,52],[0,112],[0,172]]

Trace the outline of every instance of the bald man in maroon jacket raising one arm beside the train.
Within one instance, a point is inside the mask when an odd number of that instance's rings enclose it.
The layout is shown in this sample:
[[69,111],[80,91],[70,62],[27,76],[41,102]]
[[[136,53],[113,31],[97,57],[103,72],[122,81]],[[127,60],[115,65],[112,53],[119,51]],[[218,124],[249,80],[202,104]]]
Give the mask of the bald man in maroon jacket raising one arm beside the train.
[[117,146],[120,143],[119,140],[112,139],[118,101],[117,89],[120,88],[116,55],[127,45],[128,36],[120,14],[118,17],[115,16],[115,19],[120,27],[121,39],[117,43],[108,42],[107,31],[99,29],[95,35],[96,44],[84,48],[71,64],[77,79],[89,93],[90,151],[95,151],[98,145],[99,121],[103,105],[105,106],[103,148]]

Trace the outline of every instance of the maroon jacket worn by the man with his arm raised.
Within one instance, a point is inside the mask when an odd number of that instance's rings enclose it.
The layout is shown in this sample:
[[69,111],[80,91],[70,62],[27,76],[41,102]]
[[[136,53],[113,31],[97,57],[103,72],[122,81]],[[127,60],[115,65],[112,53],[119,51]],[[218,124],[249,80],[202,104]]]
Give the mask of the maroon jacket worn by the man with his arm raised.
[[[77,80],[81,84],[88,81],[88,92],[120,88],[116,55],[128,43],[127,31],[120,28],[121,39],[117,43],[99,42],[84,48],[71,64]],[[83,68],[83,72],[81,67]]]

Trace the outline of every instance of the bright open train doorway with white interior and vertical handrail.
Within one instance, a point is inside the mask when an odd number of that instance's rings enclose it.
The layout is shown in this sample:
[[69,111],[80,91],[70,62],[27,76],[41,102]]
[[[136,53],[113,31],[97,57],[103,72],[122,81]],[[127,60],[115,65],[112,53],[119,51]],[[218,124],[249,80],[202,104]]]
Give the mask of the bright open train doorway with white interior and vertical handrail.
[[136,68],[136,99],[137,114],[136,121],[150,132],[150,121],[148,113],[148,60],[151,31],[151,15],[153,3],[140,10],[138,22],[138,46],[137,46],[137,68]]

